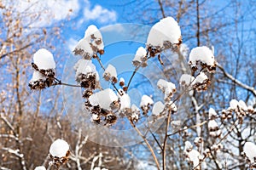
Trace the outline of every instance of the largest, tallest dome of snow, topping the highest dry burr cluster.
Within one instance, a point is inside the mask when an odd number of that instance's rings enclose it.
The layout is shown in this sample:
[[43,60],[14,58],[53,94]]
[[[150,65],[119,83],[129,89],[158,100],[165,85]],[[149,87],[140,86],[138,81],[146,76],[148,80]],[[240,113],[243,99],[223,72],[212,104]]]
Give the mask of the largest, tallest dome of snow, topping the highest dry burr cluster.
[[169,16],[152,26],[148,33],[147,45],[163,48],[164,42],[175,44],[180,42],[180,38],[180,27],[177,21]]

